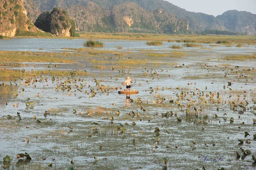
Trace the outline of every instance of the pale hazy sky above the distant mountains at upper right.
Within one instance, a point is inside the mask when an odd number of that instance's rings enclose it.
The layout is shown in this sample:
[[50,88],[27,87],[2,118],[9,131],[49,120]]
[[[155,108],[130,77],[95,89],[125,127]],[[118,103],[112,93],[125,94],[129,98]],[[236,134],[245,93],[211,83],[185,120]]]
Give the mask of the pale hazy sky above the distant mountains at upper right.
[[228,10],[248,11],[256,14],[256,0],[166,0],[191,12],[221,15]]

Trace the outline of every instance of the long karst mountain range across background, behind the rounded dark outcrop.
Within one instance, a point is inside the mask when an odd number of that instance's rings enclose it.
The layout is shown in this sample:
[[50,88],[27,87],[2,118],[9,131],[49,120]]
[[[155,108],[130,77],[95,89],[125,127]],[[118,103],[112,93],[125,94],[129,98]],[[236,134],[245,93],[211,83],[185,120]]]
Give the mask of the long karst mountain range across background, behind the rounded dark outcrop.
[[[3,8],[4,3],[20,3],[21,15],[14,14],[11,8]],[[165,34],[201,34],[205,30],[221,30],[256,35],[256,15],[246,11],[229,10],[222,15],[213,16],[201,12],[190,12],[168,1],[163,0],[3,0],[0,7],[0,22],[8,27],[1,27],[0,35],[13,36],[16,29],[12,28],[15,17],[24,23],[18,28],[28,31],[33,23],[45,11],[60,7],[74,19],[77,31],[87,32],[134,32],[134,33],[165,33]],[[20,11],[22,11],[20,10]],[[3,14],[10,13],[10,17]],[[14,16],[15,15],[15,16]],[[30,21],[30,26],[24,27]],[[19,17],[20,18],[20,17]],[[4,24],[3,24],[4,23]],[[33,29],[29,29],[32,31]],[[9,30],[10,31],[10,30]]]

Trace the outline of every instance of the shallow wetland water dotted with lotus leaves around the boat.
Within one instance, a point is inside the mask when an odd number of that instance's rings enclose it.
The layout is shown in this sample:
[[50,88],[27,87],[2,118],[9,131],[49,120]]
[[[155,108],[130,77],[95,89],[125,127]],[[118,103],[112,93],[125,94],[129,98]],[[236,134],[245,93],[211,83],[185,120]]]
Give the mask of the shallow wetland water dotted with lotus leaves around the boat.
[[[0,61],[1,69],[70,71],[0,78],[0,158],[12,157],[10,169],[255,169],[256,61],[223,60],[255,54],[254,45],[171,49],[182,43],[101,41],[98,50],[65,50],[83,48],[85,40],[0,40],[0,50],[76,54],[65,56],[74,63],[57,67]],[[132,100],[114,90],[127,76],[139,91]],[[15,159],[25,152],[32,160]]]

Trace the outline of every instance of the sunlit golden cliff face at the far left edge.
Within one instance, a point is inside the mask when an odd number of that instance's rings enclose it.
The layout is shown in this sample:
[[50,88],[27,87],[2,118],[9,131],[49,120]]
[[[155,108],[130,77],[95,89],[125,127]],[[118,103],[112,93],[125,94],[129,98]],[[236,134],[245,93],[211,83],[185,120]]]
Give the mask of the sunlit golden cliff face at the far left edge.
[[13,37],[17,31],[36,32],[36,27],[34,27],[26,14],[23,0],[1,0],[0,35]]

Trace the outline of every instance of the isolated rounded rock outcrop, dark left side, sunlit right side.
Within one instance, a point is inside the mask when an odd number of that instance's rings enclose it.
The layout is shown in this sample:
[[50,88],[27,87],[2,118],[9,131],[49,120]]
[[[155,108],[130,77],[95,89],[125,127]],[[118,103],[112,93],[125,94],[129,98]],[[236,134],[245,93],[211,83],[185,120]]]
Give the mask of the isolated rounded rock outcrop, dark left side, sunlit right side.
[[55,36],[74,36],[72,31],[75,29],[74,21],[67,15],[67,11],[62,10],[61,8],[54,8],[51,12],[43,12],[36,19],[34,25]]

